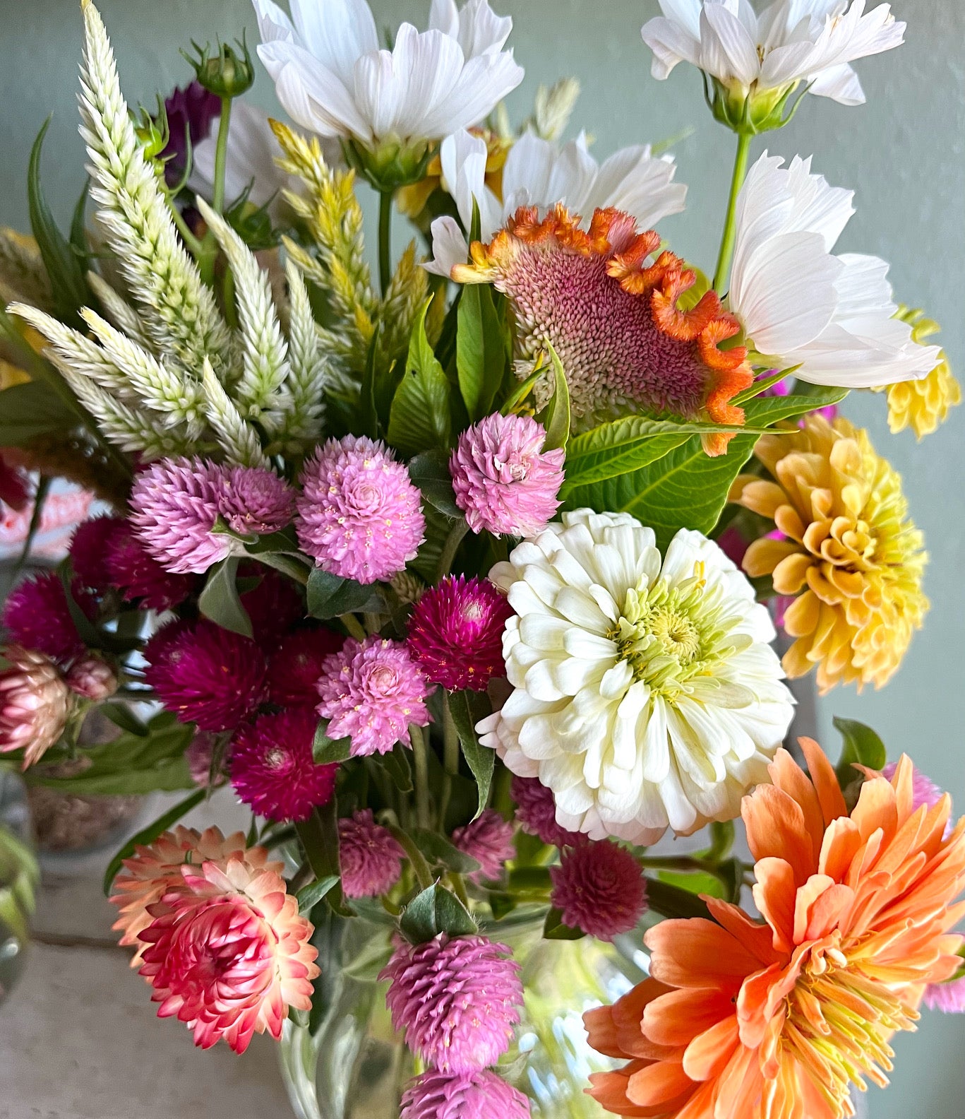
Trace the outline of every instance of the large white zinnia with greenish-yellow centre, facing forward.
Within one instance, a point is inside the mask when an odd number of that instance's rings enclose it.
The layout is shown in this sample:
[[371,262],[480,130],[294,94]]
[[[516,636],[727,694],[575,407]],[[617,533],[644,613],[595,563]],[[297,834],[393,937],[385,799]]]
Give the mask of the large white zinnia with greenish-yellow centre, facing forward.
[[515,611],[513,690],[477,730],[564,827],[654,843],[734,818],[767,780],[794,700],[766,608],[712,540],[681,529],[661,561],[628,514],[580,509],[490,579]]

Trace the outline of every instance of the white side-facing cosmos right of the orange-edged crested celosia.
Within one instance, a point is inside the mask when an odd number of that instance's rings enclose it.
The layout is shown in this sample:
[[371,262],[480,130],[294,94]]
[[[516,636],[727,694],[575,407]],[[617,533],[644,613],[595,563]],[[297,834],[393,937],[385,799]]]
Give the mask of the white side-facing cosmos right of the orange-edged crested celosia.
[[754,348],[816,385],[872,388],[927,376],[937,346],[911,338],[877,256],[832,254],[853,192],[811,173],[811,160],[766,152],[737,203],[728,305]]

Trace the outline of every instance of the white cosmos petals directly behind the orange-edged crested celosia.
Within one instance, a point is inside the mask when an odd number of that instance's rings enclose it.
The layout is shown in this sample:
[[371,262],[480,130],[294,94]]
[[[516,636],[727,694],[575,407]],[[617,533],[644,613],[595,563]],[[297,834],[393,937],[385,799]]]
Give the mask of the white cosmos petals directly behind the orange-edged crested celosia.
[[[443,185],[452,195],[463,227],[472,223],[473,199],[480,208],[481,234],[489,241],[520,206],[546,209],[562,203],[589,222],[598,207],[614,206],[632,214],[651,229],[684,207],[687,187],[674,182],[672,157],[656,157],[650,145],[622,148],[603,163],[590,156],[586,137],[559,147],[524,132],[507,156],[502,172],[502,201],[485,185],[485,141],[465,129],[446,137],[439,151]],[[448,276],[453,265],[464,264],[469,244],[453,217],[433,222],[431,272]]]

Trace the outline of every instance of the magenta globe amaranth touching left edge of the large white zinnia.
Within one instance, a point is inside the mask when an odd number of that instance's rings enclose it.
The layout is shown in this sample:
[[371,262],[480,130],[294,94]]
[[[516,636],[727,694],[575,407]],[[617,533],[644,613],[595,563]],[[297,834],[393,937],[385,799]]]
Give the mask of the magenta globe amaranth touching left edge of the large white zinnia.
[[413,610],[408,642],[426,677],[451,692],[485,692],[505,676],[502,633],[512,606],[488,579],[446,577]]

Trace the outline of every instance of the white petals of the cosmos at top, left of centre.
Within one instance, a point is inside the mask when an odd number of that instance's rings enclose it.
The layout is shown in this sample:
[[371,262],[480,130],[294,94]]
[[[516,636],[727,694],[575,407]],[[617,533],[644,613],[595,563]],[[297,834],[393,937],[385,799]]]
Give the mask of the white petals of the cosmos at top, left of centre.
[[292,18],[272,0],[254,0],[258,57],[278,101],[303,128],[323,137],[382,142],[441,140],[492,111],[523,77],[512,28],[486,0],[433,0],[429,29],[403,23],[391,50],[379,49],[366,0],[291,0]]

